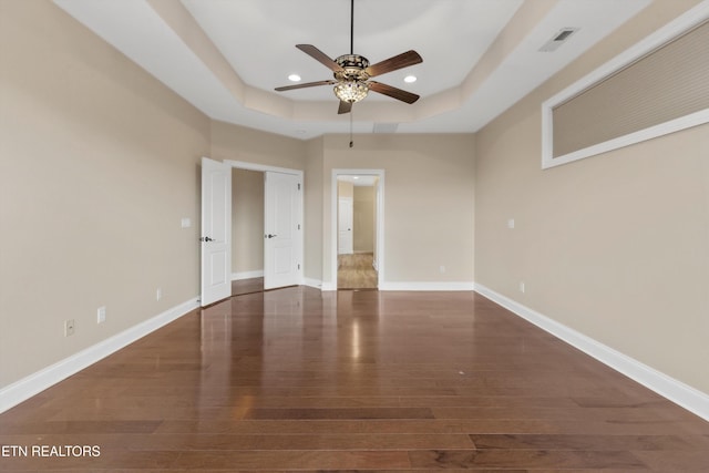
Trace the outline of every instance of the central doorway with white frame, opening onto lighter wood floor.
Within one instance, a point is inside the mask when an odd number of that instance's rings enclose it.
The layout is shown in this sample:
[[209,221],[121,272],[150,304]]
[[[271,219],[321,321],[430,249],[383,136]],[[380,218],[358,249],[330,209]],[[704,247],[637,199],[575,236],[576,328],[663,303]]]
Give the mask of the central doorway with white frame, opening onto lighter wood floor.
[[335,288],[374,290],[382,278],[383,171],[333,171]]

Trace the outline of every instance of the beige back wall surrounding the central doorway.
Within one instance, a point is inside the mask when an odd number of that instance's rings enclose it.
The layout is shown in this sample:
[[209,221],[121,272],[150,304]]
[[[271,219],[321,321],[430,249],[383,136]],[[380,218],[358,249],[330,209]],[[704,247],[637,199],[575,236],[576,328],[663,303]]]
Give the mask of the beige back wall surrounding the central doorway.
[[[323,138],[323,280],[331,282],[331,176],[384,169],[384,280],[473,281],[472,135],[345,135]],[[440,271],[445,266],[445,273]]]

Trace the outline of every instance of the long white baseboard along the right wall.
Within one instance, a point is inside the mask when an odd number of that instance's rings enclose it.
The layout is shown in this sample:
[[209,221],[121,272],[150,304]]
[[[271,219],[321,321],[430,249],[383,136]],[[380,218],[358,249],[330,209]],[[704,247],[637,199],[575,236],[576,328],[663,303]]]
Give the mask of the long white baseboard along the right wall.
[[657,371],[483,285],[475,284],[475,292],[709,421],[709,394]]

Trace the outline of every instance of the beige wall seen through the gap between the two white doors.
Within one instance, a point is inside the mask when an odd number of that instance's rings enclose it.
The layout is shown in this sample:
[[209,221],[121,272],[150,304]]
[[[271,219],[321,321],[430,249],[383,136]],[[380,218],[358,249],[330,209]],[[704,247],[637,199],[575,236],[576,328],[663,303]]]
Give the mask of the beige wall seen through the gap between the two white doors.
[[232,169],[232,273],[264,270],[264,173]]

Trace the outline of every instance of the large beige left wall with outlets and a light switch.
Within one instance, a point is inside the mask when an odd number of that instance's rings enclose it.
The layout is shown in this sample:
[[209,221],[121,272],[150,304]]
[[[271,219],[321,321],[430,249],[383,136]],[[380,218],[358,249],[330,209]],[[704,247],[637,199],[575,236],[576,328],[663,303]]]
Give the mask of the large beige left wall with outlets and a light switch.
[[0,1],[0,388],[196,297],[208,152],[205,115],[53,3]]

